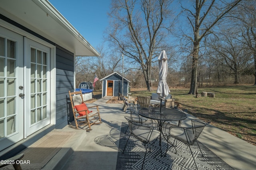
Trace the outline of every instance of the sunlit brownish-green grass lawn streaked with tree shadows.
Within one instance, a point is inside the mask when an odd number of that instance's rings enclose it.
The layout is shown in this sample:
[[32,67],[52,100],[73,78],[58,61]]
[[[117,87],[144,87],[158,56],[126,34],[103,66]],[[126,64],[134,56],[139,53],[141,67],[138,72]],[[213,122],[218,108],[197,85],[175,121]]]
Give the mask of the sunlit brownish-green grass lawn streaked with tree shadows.
[[[213,92],[215,98],[189,95],[189,88],[170,88],[182,109],[200,119],[256,145],[256,86],[203,87],[198,92]],[[131,89],[133,97],[151,96],[146,89]]]

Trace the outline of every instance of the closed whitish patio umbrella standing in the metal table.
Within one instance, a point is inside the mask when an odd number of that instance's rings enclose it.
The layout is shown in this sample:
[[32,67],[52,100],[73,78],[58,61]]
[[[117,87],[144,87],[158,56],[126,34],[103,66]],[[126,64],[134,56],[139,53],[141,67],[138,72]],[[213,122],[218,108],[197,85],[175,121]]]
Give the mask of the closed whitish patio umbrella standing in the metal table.
[[161,112],[162,100],[165,99],[165,97],[168,96],[168,94],[170,93],[168,84],[166,82],[168,64],[167,64],[166,52],[164,50],[161,51],[161,54],[158,57],[158,66],[159,66],[159,84],[158,84],[156,93],[159,95],[159,98],[161,101],[160,103],[160,112]]

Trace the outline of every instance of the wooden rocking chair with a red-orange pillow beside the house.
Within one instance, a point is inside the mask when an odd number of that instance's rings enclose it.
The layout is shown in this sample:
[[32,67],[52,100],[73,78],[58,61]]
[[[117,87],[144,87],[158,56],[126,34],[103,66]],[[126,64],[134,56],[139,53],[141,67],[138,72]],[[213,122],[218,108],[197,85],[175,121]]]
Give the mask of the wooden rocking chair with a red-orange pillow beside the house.
[[[76,127],[74,127],[71,124],[70,124],[70,127],[79,129],[78,127],[80,126],[88,125],[89,127],[88,130],[90,131],[92,130],[91,129],[92,125],[102,123],[98,105],[87,107],[86,104],[84,103],[81,90],[80,92],[68,91],[68,93],[69,93],[72,111],[74,115],[74,121],[76,123]],[[93,107],[96,107],[95,111],[89,111],[89,108],[93,108]]]

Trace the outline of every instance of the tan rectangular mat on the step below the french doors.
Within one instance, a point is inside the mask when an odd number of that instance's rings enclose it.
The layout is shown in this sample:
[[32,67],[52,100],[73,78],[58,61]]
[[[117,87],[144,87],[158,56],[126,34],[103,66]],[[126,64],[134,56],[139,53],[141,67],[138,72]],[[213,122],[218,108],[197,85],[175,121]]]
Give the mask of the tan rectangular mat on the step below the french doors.
[[[40,170],[43,168],[74,134],[75,132],[50,132],[30,145],[20,152],[24,153],[22,160],[26,161],[26,164],[21,164],[22,170]],[[14,169],[12,165],[4,168]]]

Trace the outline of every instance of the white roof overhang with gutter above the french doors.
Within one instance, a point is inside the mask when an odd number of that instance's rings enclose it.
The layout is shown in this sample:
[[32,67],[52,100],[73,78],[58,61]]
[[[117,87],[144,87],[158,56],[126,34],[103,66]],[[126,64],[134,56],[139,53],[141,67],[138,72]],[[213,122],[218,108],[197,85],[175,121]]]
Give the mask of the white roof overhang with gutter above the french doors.
[[48,0],[1,0],[0,13],[76,56],[100,56]]

